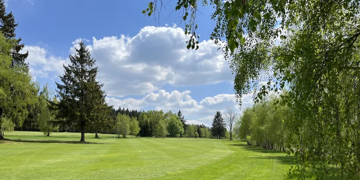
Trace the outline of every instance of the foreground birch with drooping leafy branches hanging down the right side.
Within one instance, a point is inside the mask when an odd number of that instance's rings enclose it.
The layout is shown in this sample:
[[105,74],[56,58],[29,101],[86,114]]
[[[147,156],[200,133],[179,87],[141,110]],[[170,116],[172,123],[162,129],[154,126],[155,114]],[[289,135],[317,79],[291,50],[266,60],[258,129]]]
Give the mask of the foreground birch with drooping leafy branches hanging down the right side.
[[[216,21],[211,39],[225,45],[225,58],[231,58],[240,103],[254,89],[259,90],[255,102],[271,90],[289,90],[282,96],[291,109],[287,146],[296,151],[290,150],[296,166],[289,175],[359,178],[359,0],[201,1],[209,2]],[[175,7],[188,20],[187,48],[198,48],[198,3],[179,0]],[[143,13],[159,11],[157,4],[162,0],[150,2]],[[270,69],[274,73],[261,77]],[[269,82],[260,85],[264,79]]]

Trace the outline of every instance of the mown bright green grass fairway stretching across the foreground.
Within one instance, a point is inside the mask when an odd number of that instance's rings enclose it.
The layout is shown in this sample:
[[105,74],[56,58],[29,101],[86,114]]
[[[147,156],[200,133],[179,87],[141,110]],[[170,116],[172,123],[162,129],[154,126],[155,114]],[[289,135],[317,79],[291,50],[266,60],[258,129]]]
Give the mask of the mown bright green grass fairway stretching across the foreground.
[[79,133],[5,133],[0,179],[282,180],[292,162],[241,141],[113,136],[86,134],[81,144]]

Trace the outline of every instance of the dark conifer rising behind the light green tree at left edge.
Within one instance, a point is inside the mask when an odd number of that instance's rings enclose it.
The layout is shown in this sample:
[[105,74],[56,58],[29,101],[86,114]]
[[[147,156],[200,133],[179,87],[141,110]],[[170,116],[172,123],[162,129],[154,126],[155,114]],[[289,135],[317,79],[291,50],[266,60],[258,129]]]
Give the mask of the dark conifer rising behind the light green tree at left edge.
[[22,67],[21,70],[25,73],[29,72],[29,65],[25,62],[25,59],[28,57],[29,52],[24,54],[19,53],[21,49],[24,48],[24,44],[20,44],[21,38],[16,39],[15,30],[18,24],[15,22],[15,18],[12,14],[6,13],[5,4],[3,0],[0,0],[0,31],[3,33],[4,37],[7,39],[15,39],[15,45],[12,49],[12,63],[11,67],[19,66]]

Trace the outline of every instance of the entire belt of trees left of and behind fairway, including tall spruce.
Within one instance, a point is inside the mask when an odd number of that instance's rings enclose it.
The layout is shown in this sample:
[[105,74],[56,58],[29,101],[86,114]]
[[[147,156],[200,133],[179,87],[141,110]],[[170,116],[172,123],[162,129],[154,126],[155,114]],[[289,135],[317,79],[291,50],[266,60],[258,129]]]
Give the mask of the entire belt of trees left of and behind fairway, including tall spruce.
[[[115,110],[105,98],[103,84],[96,81],[96,60],[83,42],[75,53],[69,54],[70,63],[63,65],[64,74],[55,82],[53,92],[48,85],[32,81],[28,53],[19,53],[24,47],[16,39],[17,23],[12,13],[5,12],[0,0],[0,139],[4,132],[113,133],[142,137],[228,137],[224,119],[218,111],[211,129],[205,125],[187,125],[181,111],[177,114],[162,110]],[[231,132],[231,131],[230,131]],[[231,137],[231,136],[230,136]]]

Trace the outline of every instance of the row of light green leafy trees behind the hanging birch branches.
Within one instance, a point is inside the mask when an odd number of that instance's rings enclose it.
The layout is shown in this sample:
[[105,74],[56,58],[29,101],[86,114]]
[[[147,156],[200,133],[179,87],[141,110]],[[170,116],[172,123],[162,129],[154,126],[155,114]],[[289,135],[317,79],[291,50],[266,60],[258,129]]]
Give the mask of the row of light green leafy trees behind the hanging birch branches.
[[248,145],[285,151],[290,109],[281,105],[279,98],[270,96],[243,111],[235,125],[235,132]]

